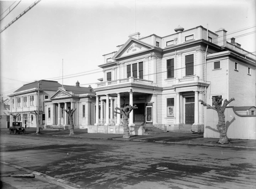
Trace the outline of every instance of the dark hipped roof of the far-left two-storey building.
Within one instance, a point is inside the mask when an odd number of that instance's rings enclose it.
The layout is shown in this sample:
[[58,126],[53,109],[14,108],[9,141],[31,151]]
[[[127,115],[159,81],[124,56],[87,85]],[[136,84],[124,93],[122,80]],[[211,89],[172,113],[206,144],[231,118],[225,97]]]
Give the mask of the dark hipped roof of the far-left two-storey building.
[[[23,85],[18,90],[14,91],[14,93],[29,90],[29,89],[34,89],[37,87],[38,87],[38,82],[35,81],[33,83]],[[61,84],[59,84],[57,81],[40,80],[40,90],[57,91],[59,87],[61,87]]]

